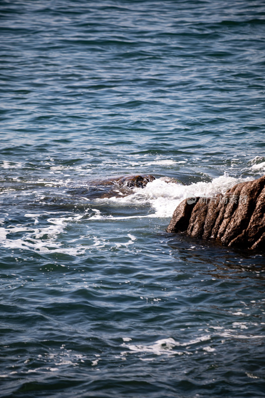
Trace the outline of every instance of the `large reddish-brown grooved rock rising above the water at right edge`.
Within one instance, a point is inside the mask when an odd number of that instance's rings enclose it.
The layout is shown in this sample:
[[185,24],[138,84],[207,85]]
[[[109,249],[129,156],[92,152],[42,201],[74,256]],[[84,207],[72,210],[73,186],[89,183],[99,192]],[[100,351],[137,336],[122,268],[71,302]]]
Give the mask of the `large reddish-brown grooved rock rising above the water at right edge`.
[[219,241],[224,246],[265,250],[265,176],[235,185],[225,195],[183,200],[168,232]]

